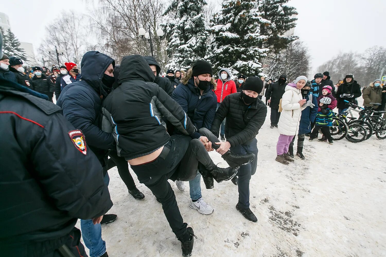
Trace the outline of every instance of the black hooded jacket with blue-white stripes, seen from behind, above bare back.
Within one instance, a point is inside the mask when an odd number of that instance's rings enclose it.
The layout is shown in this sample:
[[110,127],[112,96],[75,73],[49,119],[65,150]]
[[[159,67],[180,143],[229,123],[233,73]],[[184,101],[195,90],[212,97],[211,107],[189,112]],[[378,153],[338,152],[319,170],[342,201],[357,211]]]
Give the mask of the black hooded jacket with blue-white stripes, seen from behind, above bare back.
[[161,116],[183,134],[196,132],[181,106],[154,79],[141,55],[125,56],[120,65],[120,86],[103,102],[103,131],[114,135],[117,153],[126,160],[152,153],[170,140]]

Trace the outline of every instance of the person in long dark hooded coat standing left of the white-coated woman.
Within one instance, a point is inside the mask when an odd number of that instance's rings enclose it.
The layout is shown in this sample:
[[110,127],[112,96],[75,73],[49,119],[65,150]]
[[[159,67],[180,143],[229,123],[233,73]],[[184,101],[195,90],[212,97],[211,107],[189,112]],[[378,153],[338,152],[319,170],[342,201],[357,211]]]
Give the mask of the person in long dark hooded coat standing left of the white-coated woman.
[[287,75],[282,74],[279,77],[279,80],[272,84],[272,86],[267,89],[267,98],[269,107],[271,107],[271,127],[278,127],[280,113],[279,113],[279,103],[281,97],[283,97],[283,94],[285,92],[287,85]]

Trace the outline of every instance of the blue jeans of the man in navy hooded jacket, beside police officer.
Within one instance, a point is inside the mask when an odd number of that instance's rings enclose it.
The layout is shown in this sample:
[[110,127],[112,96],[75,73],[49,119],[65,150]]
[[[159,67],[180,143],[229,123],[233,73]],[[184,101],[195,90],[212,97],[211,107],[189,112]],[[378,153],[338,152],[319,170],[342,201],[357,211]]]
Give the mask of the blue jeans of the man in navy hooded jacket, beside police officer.
[[[104,178],[108,185],[110,177],[106,173]],[[86,247],[90,250],[90,257],[100,257],[106,252],[106,242],[102,239],[102,227],[100,224],[94,225],[93,220],[80,220],[82,238]]]

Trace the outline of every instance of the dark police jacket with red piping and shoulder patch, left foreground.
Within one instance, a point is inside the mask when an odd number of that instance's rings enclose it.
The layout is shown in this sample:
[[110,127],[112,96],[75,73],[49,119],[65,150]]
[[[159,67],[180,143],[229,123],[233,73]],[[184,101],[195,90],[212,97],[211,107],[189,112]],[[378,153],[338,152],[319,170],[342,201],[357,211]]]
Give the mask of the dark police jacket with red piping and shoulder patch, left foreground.
[[[0,255],[46,256],[64,244],[78,218],[112,207],[102,166],[84,138],[83,152],[75,145],[81,131],[71,138],[76,129],[59,106],[1,79],[0,124]],[[5,254],[16,244],[29,244],[35,255]]]

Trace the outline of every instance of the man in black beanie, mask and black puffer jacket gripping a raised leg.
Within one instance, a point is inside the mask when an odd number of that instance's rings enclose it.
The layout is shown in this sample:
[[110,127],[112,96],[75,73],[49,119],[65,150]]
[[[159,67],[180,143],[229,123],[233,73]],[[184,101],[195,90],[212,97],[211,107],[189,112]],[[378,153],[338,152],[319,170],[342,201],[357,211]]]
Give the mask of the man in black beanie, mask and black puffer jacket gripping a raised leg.
[[[243,83],[241,93],[226,96],[216,112],[210,129],[214,136],[208,137],[210,141],[220,146],[217,149],[220,154],[230,149],[232,154],[236,155],[256,155],[251,163],[240,166],[237,177],[232,179],[232,182],[239,186],[239,202],[236,209],[252,222],[257,222],[257,218],[249,208],[249,180],[257,167],[256,135],[267,116],[267,106],[258,98],[262,88],[263,82],[260,78],[249,77]],[[224,118],[227,119],[225,123],[227,141],[218,142],[220,124]]]

